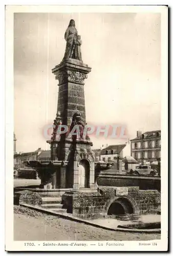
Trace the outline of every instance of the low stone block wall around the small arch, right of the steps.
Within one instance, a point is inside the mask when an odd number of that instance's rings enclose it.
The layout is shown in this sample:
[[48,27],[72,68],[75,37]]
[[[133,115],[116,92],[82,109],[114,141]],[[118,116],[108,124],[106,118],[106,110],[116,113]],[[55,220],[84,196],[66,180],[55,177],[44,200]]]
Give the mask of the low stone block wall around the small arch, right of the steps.
[[[67,192],[62,195],[62,204],[67,212],[81,219],[106,218],[107,211],[114,202],[123,205],[126,213],[157,214],[161,195],[157,190],[140,190],[139,187],[128,187],[128,195],[116,196],[116,187],[99,187],[97,192]],[[132,212],[128,212],[129,205]]]

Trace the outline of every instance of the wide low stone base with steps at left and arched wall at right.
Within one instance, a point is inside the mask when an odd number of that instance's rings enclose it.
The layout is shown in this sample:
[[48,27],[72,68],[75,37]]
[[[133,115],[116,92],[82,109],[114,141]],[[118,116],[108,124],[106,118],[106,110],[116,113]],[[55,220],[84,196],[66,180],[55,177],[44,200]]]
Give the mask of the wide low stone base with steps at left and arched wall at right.
[[[40,205],[45,207],[45,201],[53,210],[59,207],[66,214],[73,214],[80,219],[116,218],[121,221],[131,220],[139,223],[139,216],[157,214],[160,206],[160,193],[157,190],[139,190],[139,187],[98,187],[74,189],[14,189],[14,204]],[[60,202],[60,203],[59,203]],[[58,206],[57,206],[58,204]],[[60,204],[60,205],[59,205]],[[46,208],[49,208],[46,206]],[[120,214],[120,209],[122,215]],[[62,210],[61,210],[62,211]]]

